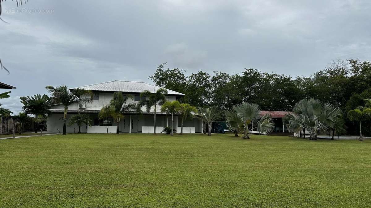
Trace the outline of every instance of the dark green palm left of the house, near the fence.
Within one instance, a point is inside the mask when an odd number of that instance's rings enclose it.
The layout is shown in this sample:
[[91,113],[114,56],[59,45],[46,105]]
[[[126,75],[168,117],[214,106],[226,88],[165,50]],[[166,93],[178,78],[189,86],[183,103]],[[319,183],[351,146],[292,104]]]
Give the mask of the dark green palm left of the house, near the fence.
[[51,114],[49,106],[52,99],[47,95],[36,94],[27,97],[20,97],[21,103],[23,104],[22,111],[26,114],[35,115],[35,133],[37,133],[37,127],[42,118],[47,117]]

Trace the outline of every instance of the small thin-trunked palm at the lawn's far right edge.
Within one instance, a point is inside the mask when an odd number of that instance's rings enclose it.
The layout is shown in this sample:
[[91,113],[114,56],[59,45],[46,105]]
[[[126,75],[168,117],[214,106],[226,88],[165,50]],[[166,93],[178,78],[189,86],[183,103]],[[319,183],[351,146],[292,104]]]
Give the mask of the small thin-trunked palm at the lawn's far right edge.
[[371,100],[366,98],[364,106],[359,106],[358,108],[348,111],[348,118],[351,121],[359,122],[359,141],[363,141],[362,137],[362,121],[371,118]]

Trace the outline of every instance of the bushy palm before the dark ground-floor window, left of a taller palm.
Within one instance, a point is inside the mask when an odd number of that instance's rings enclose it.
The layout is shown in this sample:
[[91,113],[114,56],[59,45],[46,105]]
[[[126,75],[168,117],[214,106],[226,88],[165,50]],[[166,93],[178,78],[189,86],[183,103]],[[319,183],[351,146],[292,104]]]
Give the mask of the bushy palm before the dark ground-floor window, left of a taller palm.
[[101,109],[99,112],[99,119],[111,116],[116,122],[116,134],[120,131],[120,121],[124,118],[126,113],[140,113],[140,106],[136,103],[126,104],[132,95],[123,95],[122,92],[114,92],[114,98],[109,101],[109,104]]

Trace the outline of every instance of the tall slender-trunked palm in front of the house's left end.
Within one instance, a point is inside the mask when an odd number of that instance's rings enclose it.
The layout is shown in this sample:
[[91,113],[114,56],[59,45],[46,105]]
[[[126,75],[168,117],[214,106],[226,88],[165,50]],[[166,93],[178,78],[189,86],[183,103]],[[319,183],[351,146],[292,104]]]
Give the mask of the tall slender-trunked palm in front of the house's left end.
[[63,135],[66,135],[66,121],[68,107],[72,103],[90,103],[92,101],[92,91],[76,88],[74,90],[68,89],[66,85],[60,85],[59,87],[46,86],[46,90],[54,97],[53,99],[62,105],[64,105],[64,119],[63,119]]

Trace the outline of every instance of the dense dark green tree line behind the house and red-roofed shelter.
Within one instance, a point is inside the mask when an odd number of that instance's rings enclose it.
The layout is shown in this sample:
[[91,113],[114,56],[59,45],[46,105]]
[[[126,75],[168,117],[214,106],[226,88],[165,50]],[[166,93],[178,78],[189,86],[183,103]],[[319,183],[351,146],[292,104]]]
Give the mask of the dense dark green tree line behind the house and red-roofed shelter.
[[[364,105],[365,98],[371,98],[371,63],[358,59],[332,61],[311,77],[293,78],[254,68],[235,74],[198,71],[187,76],[185,73],[180,68],[165,68],[165,64],[160,64],[149,78],[155,85],[184,93],[181,103],[221,110],[249,102],[258,104],[262,110],[292,111],[301,99],[316,98],[342,110],[349,133],[356,133],[358,126],[349,121],[347,112]],[[370,121],[365,122],[363,131],[371,134]]]

